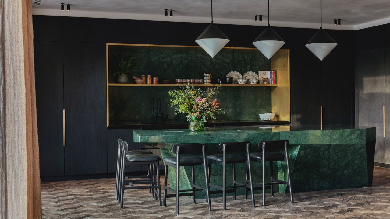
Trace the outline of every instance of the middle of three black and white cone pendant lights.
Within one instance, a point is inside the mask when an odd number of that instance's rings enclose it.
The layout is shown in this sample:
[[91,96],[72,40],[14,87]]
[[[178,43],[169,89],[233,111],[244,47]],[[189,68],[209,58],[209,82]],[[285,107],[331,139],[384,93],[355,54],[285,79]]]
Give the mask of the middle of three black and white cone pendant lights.
[[268,0],[268,26],[252,42],[265,57],[270,59],[286,42],[280,37],[275,30],[269,26],[269,0]]

